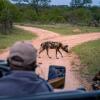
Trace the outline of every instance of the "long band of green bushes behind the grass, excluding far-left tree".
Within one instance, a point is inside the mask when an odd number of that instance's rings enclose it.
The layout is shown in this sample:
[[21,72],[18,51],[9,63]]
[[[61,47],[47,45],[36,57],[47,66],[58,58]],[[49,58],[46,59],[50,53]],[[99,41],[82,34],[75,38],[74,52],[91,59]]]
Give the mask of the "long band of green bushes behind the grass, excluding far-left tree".
[[[100,8],[71,8],[55,7],[39,8],[39,13],[28,5],[23,5],[19,9],[19,20],[32,23],[70,23],[76,25],[99,26]],[[98,25],[96,25],[96,23]],[[93,24],[92,24],[93,23]]]

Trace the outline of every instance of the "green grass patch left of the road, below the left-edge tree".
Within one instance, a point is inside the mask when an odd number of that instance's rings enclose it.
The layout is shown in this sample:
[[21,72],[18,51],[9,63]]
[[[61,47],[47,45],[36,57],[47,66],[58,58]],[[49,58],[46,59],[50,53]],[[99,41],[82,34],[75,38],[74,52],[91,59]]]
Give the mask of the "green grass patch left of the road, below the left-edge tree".
[[14,42],[20,40],[31,40],[36,38],[36,35],[29,31],[24,31],[19,28],[14,28],[9,34],[3,35],[0,33],[0,51],[11,46]]

